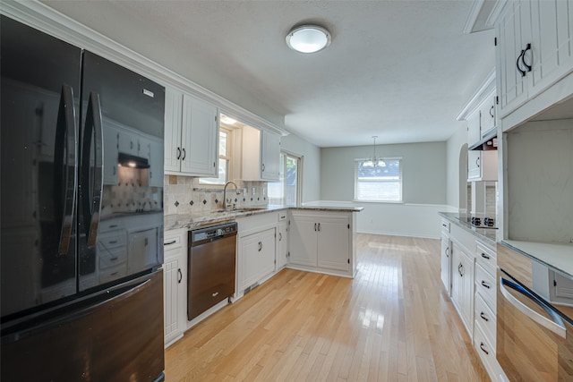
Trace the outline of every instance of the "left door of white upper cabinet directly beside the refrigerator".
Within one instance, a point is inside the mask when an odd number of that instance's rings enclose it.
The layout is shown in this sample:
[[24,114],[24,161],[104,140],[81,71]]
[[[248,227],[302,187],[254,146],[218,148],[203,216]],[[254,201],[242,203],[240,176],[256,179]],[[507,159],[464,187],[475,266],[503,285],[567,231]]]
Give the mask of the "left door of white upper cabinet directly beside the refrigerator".
[[165,89],[165,171],[181,170],[181,123],[183,113],[183,93],[175,89]]

